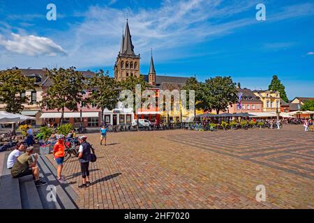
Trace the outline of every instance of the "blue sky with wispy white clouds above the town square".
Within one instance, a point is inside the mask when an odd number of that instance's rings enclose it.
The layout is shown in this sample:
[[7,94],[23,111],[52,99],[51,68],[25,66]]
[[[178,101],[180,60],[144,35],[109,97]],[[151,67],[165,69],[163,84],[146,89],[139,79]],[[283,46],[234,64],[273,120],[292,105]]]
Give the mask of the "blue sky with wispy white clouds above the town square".
[[[57,20],[46,19],[48,3]],[[257,21],[257,3],[267,20]],[[231,75],[267,89],[278,75],[290,99],[314,96],[314,2],[234,0],[0,0],[0,68],[102,68],[113,74],[126,13],[141,73]]]

